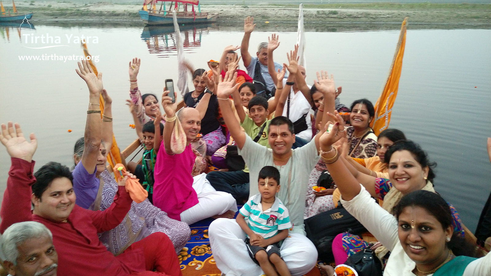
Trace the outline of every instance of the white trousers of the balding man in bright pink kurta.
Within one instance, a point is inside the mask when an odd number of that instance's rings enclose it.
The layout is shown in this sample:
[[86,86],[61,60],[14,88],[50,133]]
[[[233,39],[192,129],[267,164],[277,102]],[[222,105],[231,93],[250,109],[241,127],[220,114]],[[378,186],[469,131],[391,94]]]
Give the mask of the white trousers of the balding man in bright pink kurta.
[[237,212],[237,202],[230,193],[217,192],[206,179],[206,173],[193,177],[192,188],[198,195],[199,203],[181,213],[181,221],[192,224],[228,210]]

